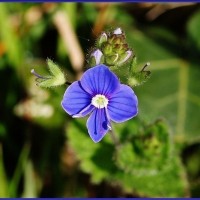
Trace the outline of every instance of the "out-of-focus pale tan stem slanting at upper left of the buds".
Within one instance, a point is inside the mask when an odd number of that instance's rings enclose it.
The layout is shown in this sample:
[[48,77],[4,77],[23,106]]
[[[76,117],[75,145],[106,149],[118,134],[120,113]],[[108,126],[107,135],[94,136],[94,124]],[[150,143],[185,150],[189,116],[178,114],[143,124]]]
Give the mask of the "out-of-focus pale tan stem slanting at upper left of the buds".
[[84,54],[78,42],[76,33],[71,25],[70,19],[63,11],[58,11],[53,17],[53,22],[63,39],[72,67],[77,72],[77,79],[79,79],[82,74]]

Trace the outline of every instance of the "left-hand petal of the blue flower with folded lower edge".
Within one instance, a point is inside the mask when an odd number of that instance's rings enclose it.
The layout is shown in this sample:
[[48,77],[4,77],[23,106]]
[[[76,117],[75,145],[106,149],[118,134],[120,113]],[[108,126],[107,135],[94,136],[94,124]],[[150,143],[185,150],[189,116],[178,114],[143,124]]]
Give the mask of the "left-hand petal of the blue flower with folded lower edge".
[[67,88],[61,102],[63,109],[74,117],[84,117],[89,114],[94,109],[90,104],[91,96],[83,90],[80,81],[75,81]]

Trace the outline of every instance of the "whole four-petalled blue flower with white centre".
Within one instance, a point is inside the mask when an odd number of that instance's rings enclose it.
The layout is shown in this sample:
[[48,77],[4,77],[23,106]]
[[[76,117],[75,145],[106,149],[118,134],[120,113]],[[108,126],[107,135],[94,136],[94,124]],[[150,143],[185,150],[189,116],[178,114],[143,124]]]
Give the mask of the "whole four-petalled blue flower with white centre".
[[63,109],[72,117],[91,113],[87,128],[94,142],[99,142],[111,129],[111,121],[124,122],[138,113],[138,100],[133,90],[120,84],[105,65],[88,69],[65,91]]

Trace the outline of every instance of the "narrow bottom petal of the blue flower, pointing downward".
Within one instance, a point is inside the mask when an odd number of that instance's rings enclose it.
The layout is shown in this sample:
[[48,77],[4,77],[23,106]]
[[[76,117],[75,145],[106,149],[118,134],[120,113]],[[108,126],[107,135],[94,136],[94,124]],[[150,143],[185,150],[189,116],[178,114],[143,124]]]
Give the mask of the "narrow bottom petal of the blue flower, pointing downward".
[[109,130],[105,109],[95,109],[87,120],[87,128],[94,142],[99,142]]

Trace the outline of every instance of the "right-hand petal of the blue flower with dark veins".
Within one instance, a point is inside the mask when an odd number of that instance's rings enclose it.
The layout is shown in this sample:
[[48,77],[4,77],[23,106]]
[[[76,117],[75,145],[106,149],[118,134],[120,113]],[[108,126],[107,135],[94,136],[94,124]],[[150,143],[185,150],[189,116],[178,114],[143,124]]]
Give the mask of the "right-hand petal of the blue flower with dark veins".
[[114,122],[124,122],[138,113],[138,100],[133,90],[127,85],[120,85],[120,89],[113,94],[108,103],[108,114]]

